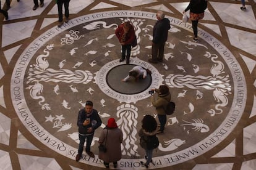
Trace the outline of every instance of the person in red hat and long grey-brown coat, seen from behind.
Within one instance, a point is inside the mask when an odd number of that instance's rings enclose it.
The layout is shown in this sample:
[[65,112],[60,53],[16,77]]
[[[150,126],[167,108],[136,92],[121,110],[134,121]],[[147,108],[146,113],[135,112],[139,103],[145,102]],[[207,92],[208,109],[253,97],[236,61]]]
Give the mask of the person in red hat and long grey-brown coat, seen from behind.
[[99,158],[104,161],[106,168],[109,168],[109,163],[114,164],[117,168],[117,161],[121,160],[121,144],[122,144],[122,131],[117,127],[114,118],[108,119],[107,126],[100,134],[99,144],[106,146],[106,152],[99,152]]

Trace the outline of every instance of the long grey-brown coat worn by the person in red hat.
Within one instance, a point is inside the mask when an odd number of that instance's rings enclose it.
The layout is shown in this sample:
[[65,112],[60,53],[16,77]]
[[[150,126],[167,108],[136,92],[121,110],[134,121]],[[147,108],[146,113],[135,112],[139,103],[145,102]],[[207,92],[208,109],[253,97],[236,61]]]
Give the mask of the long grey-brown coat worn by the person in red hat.
[[[106,139],[106,134],[108,130],[108,137]],[[99,144],[105,145],[106,140],[106,148],[107,152],[99,153],[99,158],[106,163],[113,163],[121,160],[121,143],[122,143],[122,131],[119,128],[109,129],[105,128],[100,134]]]

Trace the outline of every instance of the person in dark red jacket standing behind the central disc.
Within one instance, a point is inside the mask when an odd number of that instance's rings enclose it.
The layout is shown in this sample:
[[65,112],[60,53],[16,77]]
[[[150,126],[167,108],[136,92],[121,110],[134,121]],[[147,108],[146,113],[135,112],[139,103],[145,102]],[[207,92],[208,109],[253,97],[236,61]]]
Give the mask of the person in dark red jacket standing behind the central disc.
[[116,28],[116,36],[119,39],[119,42],[122,45],[122,57],[119,62],[126,59],[126,63],[130,62],[130,51],[132,49],[132,42],[135,38],[134,26],[130,22],[124,22]]

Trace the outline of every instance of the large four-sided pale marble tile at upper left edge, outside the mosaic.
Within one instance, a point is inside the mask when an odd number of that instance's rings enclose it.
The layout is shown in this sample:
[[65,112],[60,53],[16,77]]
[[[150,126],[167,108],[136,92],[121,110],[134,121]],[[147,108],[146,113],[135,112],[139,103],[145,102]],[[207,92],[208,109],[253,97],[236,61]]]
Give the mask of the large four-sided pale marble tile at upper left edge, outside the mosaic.
[[2,25],[2,47],[31,36],[36,20]]

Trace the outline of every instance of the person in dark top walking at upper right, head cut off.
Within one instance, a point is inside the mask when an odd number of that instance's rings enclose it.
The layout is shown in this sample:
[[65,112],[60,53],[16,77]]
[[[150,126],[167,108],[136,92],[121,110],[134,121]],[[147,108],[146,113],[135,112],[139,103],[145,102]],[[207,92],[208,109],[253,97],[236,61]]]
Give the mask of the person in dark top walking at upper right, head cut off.
[[189,5],[183,11],[183,14],[189,10],[189,18],[192,21],[192,28],[194,31],[193,41],[197,42],[197,25],[198,20],[202,19],[205,16],[205,9],[207,9],[208,0],[190,0]]

